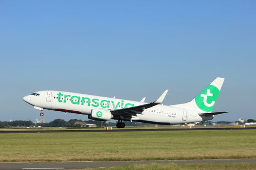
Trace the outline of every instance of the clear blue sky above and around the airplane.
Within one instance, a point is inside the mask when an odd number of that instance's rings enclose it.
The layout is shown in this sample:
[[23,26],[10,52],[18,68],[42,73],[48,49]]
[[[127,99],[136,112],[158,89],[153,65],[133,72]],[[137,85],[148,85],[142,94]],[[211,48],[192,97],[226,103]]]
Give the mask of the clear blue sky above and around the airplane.
[[[0,120],[38,119],[22,101],[65,90],[164,104],[226,78],[214,120],[256,119],[254,0],[0,0]],[[87,119],[45,111],[44,119]]]

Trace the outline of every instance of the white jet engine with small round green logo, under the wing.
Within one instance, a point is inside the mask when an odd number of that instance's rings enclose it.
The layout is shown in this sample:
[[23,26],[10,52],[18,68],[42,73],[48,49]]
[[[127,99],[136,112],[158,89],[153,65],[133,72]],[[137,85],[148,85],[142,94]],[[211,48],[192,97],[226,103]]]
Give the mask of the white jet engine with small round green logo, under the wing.
[[88,119],[106,121],[113,118],[113,115],[109,110],[104,109],[92,109],[91,114],[88,115]]

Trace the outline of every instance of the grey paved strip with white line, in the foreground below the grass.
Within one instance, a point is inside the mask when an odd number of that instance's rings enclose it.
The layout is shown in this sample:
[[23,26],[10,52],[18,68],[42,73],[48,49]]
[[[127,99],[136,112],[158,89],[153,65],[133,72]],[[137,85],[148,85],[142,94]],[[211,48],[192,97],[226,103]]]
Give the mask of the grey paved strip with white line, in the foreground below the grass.
[[166,161],[85,161],[85,162],[14,162],[0,163],[1,170],[68,170],[82,168],[103,168],[133,164],[152,163],[256,163],[256,159],[204,159],[204,160],[166,160]]

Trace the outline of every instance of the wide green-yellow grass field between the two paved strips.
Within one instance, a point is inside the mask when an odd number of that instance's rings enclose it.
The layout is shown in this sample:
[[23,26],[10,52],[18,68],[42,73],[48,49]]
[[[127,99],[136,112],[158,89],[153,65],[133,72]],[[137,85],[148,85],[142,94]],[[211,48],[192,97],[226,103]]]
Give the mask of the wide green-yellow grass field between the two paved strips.
[[256,158],[256,130],[0,134],[0,162]]

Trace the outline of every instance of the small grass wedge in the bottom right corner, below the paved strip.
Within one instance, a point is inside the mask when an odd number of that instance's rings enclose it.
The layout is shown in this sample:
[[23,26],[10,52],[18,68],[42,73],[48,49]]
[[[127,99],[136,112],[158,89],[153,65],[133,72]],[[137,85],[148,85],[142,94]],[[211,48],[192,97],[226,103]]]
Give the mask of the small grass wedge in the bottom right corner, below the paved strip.
[[88,168],[79,170],[255,170],[256,164],[234,163],[234,164],[147,164],[128,165],[111,168]]

